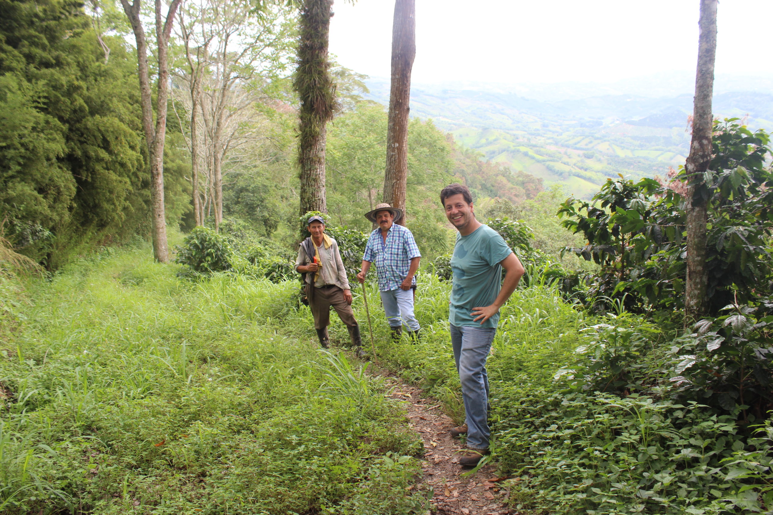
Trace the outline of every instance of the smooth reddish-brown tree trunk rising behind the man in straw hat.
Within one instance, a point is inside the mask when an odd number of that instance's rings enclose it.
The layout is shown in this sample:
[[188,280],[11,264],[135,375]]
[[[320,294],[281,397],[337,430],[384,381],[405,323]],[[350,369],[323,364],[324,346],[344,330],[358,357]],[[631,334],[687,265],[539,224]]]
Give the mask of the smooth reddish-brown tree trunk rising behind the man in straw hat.
[[[408,181],[408,114],[410,72],[416,57],[415,0],[395,0],[392,25],[392,84],[386,130],[384,202],[405,212]],[[400,223],[405,225],[404,216]]]

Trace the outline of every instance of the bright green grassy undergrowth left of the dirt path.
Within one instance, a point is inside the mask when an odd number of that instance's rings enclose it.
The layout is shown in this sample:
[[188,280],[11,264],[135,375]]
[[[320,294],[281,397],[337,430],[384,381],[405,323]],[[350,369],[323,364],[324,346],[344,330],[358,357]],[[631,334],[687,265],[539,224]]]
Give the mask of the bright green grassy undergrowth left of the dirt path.
[[297,282],[150,256],[2,283],[0,513],[426,510],[393,495],[421,449],[402,408],[317,350]]

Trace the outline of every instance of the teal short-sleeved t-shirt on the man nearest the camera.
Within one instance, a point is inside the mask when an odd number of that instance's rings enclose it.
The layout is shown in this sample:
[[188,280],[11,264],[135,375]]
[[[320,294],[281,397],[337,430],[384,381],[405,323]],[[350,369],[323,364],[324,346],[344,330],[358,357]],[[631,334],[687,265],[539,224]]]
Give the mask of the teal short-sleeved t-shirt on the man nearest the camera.
[[454,273],[454,289],[451,290],[451,306],[448,321],[457,327],[496,327],[499,313],[485,324],[473,322],[472,308],[489,306],[502,289],[502,265],[499,263],[512,250],[502,236],[488,225],[462,236],[456,235],[451,270]]

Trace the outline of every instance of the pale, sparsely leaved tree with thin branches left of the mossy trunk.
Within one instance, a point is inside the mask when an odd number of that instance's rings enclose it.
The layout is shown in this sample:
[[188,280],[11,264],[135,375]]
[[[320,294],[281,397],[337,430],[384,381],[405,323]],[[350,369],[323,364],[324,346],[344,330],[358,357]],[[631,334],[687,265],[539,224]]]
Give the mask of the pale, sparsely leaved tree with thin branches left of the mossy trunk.
[[[256,15],[247,1],[200,0],[186,5],[178,25],[185,59],[175,73],[185,87],[177,90],[176,100],[187,113],[194,208],[199,210],[197,223],[213,215],[219,230],[223,174],[229,165],[254,161],[244,150],[255,151],[254,144],[264,139],[264,86],[280,76],[290,61],[291,15],[278,5],[264,5]],[[206,174],[199,189],[201,168]]]

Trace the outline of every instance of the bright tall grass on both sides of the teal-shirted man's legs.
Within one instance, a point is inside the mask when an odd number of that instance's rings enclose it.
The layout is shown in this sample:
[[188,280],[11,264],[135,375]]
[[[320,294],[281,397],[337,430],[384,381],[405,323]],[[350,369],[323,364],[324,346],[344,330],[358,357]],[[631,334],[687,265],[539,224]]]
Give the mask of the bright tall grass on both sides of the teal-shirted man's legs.
[[[464,422],[461,388],[448,333],[448,296],[451,283],[421,276],[416,313],[423,327],[421,342],[407,339],[381,350],[390,366],[443,401],[448,415]],[[492,398],[512,381],[541,385],[552,378],[577,346],[584,314],[545,286],[519,289],[502,307],[499,330],[487,368]]]

